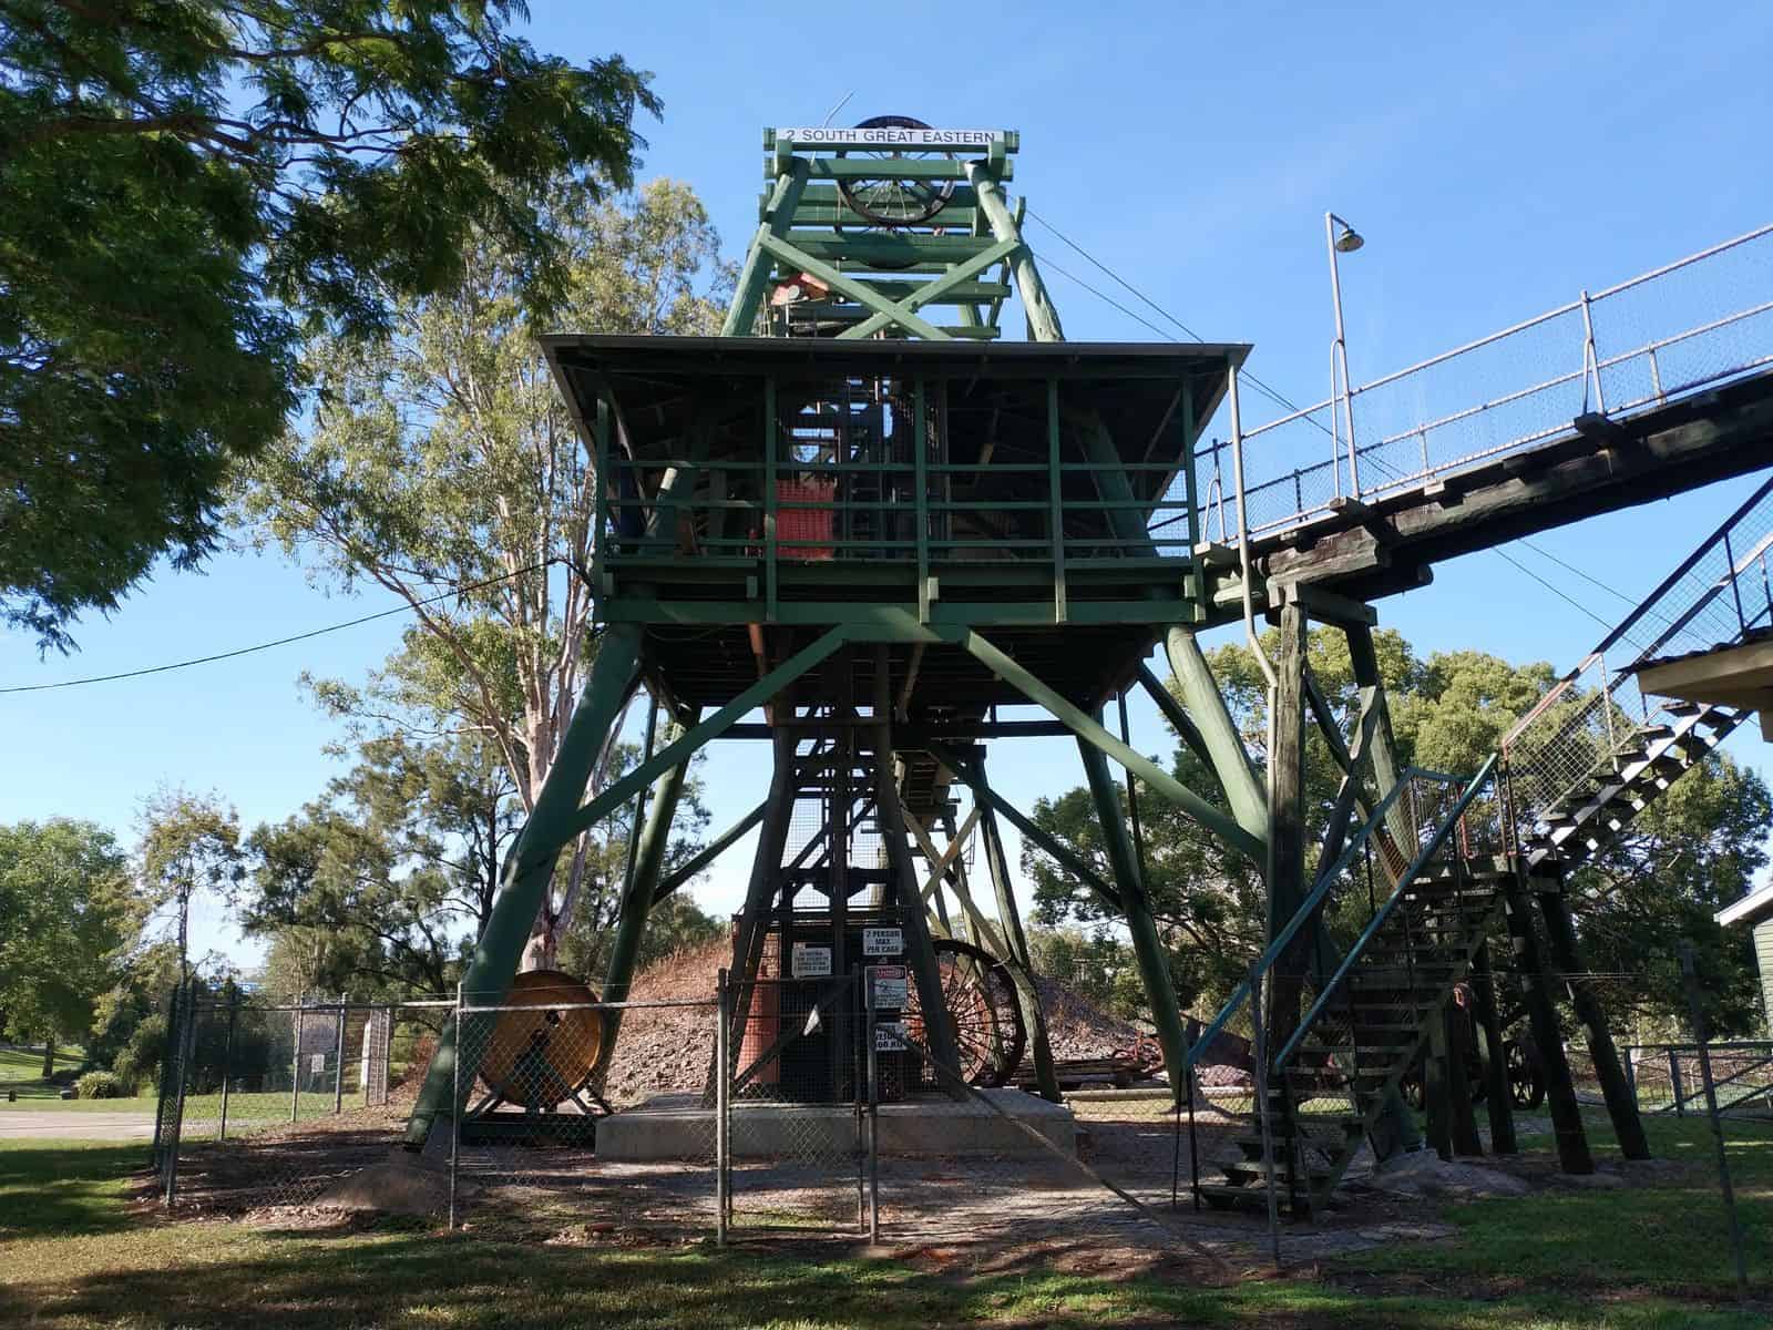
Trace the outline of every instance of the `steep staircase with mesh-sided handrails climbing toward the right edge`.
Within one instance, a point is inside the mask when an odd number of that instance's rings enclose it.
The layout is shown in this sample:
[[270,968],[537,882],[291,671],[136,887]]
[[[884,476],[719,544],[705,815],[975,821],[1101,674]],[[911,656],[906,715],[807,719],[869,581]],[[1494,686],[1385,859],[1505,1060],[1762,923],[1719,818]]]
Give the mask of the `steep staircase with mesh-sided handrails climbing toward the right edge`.
[[[1330,1202],[1477,951],[1502,931],[1504,883],[1562,874],[1603,849],[1746,718],[1651,699],[1636,670],[1764,635],[1769,550],[1773,481],[1509,731],[1452,807],[1452,777],[1411,770],[1372,810],[1195,1044],[1209,1048],[1238,1021],[1280,1044],[1241,1114],[1215,1105],[1245,1130],[1230,1135],[1236,1154],[1218,1162],[1220,1176],[1195,1183],[1200,1201],[1266,1209],[1273,1192],[1275,1208],[1298,1217]],[[1743,592],[1748,580],[1755,598]],[[1347,899],[1358,896],[1356,849],[1371,849],[1395,885],[1383,904],[1369,885],[1367,922],[1332,963],[1324,920],[1346,936],[1351,911],[1360,915]],[[1195,1075],[1191,1052],[1191,1094]],[[1268,1140],[1257,1130],[1262,1096]]]

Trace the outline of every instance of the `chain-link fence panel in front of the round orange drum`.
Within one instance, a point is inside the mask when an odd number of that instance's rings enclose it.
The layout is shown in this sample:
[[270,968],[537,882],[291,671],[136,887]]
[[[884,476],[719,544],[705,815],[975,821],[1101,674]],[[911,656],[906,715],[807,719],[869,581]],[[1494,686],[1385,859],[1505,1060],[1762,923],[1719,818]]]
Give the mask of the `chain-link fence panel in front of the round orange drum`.
[[716,1229],[718,1004],[466,1000],[452,1213],[612,1243]]

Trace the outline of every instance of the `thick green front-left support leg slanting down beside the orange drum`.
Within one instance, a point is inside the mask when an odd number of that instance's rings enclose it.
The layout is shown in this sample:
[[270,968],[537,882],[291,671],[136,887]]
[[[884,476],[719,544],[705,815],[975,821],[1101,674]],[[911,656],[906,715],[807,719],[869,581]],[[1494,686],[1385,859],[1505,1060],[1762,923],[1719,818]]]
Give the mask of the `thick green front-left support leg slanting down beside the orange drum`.
[[[585,782],[596,768],[598,754],[610,734],[610,725],[622,713],[622,704],[635,688],[640,670],[640,626],[612,624],[598,644],[585,692],[573,708],[560,752],[555,754],[548,778],[535,796],[535,807],[518,833],[518,842],[505,860],[504,881],[493,897],[486,931],[473,951],[468,972],[463,975],[463,993],[473,1002],[496,1002],[511,988],[528,942],[535,911],[541,910],[553,878],[560,846],[571,841],[571,819],[585,793]],[[473,1085],[473,1071],[463,1068],[463,1085]],[[438,1050],[426,1069],[424,1085],[406,1121],[406,1147],[422,1149],[431,1135],[431,1124],[440,1115],[454,1115],[456,1096],[456,1029],[447,1025]]]

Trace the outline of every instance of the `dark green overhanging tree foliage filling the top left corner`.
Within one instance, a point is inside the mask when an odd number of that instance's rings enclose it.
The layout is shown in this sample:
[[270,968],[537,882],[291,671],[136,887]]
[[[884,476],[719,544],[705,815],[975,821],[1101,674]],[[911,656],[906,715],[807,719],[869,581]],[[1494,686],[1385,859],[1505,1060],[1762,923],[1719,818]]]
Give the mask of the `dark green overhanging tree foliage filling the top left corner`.
[[[626,188],[619,57],[511,35],[516,0],[0,4],[0,621],[62,645],[158,555],[215,548],[216,493],[296,404],[307,328],[477,275],[560,296],[555,209]],[[69,514],[80,514],[69,521]]]

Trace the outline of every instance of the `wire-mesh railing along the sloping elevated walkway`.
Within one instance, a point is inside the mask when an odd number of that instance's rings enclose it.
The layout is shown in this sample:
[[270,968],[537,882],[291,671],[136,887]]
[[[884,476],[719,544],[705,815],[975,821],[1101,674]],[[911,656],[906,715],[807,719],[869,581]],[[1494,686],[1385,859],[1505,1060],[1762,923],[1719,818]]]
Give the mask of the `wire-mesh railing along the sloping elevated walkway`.
[[[1473,463],[1773,364],[1773,225],[1546,310],[1243,433],[1250,534],[1339,498],[1418,489]],[[1230,541],[1223,454],[1202,447],[1207,518]]]

